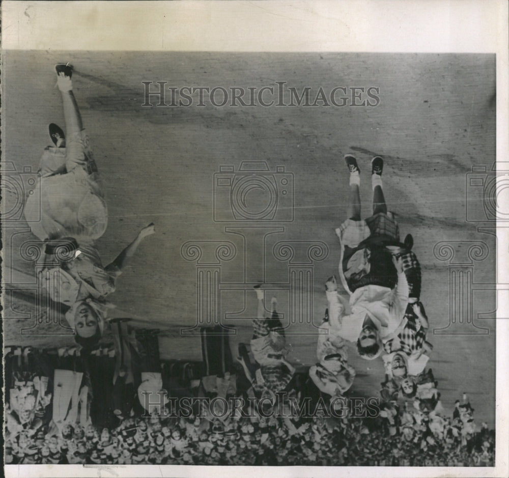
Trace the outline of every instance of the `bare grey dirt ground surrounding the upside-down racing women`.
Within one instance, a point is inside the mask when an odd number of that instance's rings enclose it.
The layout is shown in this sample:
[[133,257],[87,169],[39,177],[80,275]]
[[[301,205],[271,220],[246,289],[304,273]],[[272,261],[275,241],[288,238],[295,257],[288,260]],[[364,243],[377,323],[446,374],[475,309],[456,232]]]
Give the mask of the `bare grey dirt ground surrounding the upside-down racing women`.
[[[494,55],[7,51],[3,160],[14,163],[25,177],[30,171],[23,168],[36,171],[41,151],[49,144],[47,125],[64,126],[60,94],[53,88],[53,65],[60,61],[75,67],[74,93],[107,190],[109,223],[98,241],[104,264],[116,257],[138,229],[152,221],[156,224],[156,234],[140,246],[110,299],[117,305],[115,313],[132,317],[134,325],[161,329],[163,357],[201,356],[196,331],[185,337],[179,334],[182,326],[190,327],[197,320],[197,267],[196,261],[183,258],[181,248],[186,242],[230,241],[237,248],[231,261],[222,261],[224,290],[217,314],[223,324],[237,326],[232,338],[236,349],[238,342],[249,340],[247,319],[256,310],[254,293],[244,295],[238,284],[272,284],[266,286],[267,298],[277,295],[278,310],[287,320],[290,296],[284,285],[289,282],[290,266],[273,258],[273,247],[279,241],[310,241],[325,244],[326,257],[306,269],[312,271],[306,286],[306,297],[312,296],[312,302],[295,306],[297,310],[308,307],[313,324],[293,324],[289,341],[293,362],[314,363],[314,325],[320,323],[326,306],[323,284],[337,271],[340,255],[334,229],[346,219],[349,191],[343,155],[354,152],[359,160],[363,215],[367,216],[371,209],[369,161],[380,154],[385,158],[386,201],[397,213],[402,236],[412,233],[422,266],[421,300],[431,322],[428,339],[434,345],[429,366],[439,381],[443,404],[452,407],[466,391],[478,423],[486,420],[494,425],[495,321],[476,320],[483,330],[457,324],[446,330],[453,334],[434,333],[447,327],[449,300],[457,300],[449,289],[449,261],[434,255],[437,243],[453,241],[456,257],[466,257],[469,241],[484,243],[479,247],[485,247],[488,255],[473,261],[473,282],[495,282],[495,239],[478,232],[477,223],[466,221],[465,213],[466,200],[473,197],[467,173],[472,165],[486,165],[489,170],[495,160]],[[299,92],[310,87],[312,97],[320,87],[325,92],[335,87],[377,87],[380,104],[214,107],[207,103],[199,107],[195,100],[189,107],[150,107],[142,106],[142,81],[154,82],[152,89],[157,88],[156,81],[167,81],[167,87],[246,90],[277,88],[275,81],[286,81]],[[220,100],[221,95],[216,98]],[[227,202],[230,198],[228,187],[216,190],[214,196],[214,174],[220,166],[231,165],[238,171],[242,161],[266,161],[271,172],[284,166],[285,173],[293,175],[288,175],[293,197],[284,197],[281,191],[277,196],[280,217],[287,218],[293,211],[292,222],[214,221],[214,197]],[[248,201],[253,202],[248,207],[263,206],[256,203],[260,200],[256,193],[250,193]],[[16,203],[12,190],[4,188],[2,194],[4,208]],[[226,209],[218,212],[227,213]],[[34,237],[22,219],[7,226],[4,223],[6,288],[30,289],[18,286],[34,280],[30,279],[33,262],[23,259],[20,249]],[[237,234],[225,230],[240,226],[245,242],[238,230]],[[267,236],[265,249],[261,241],[268,230],[261,227],[279,228]],[[204,256],[201,261],[210,259]],[[234,284],[232,290],[226,290],[226,284]],[[495,310],[493,291],[474,289],[468,289],[471,316]],[[10,295],[5,296],[6,345],[72,342],[68,332],[43,319],[37,324],[37,318],[30,316],[30,291],[26,300],[15,292],[13,297],[11,301]],[[20,319],[17,314],[23,313],[29,318]],[[225,314],[236,318],[225,318]],[[21,332],[30,327],[33,333]],[[357,369],[356,392],[376,393],[383,380],[381,360],[358,360],[353,351],[350,355]]]

